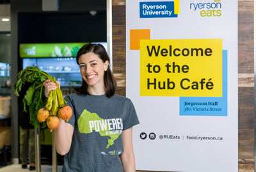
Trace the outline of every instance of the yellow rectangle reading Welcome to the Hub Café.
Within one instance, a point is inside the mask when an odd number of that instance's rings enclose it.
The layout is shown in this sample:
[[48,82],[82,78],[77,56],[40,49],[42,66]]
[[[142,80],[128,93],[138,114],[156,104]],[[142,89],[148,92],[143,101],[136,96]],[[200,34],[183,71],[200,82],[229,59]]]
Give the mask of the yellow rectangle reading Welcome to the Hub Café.
[[140,96],[222,97],[222,39],[141,40]]

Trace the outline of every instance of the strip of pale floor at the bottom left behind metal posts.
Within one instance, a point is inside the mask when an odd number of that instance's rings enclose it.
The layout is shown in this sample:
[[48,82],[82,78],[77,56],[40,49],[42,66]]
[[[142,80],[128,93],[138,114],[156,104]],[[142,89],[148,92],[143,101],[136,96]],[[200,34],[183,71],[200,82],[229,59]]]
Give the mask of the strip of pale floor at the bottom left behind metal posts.
[[[62,166],[58,166],[58,172],[61,172]],[[0,168],[0,172],[28,172],[29,169],[22,169],[21,164],[12,164],[10,166],[5,166]],[[31,172],[31,171],[29,171]],[[41,172],[52,172],[52,166],[42,165]]]

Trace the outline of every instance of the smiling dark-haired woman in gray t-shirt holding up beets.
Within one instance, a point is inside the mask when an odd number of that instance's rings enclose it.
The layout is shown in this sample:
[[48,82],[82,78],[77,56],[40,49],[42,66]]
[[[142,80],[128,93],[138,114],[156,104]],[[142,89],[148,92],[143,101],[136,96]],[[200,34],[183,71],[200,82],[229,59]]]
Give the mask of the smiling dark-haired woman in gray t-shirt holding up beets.
[[[134,172],[132,126],[139,121],[131,100],[115,94],[106,50],[100,44],[84,45],[76,61],[83,83],[65,97],[72,117],[60,119],[54,130],[57,152],[65,155],[62,171]],[[50,80],[44,85],[47,97],[57,88]]]

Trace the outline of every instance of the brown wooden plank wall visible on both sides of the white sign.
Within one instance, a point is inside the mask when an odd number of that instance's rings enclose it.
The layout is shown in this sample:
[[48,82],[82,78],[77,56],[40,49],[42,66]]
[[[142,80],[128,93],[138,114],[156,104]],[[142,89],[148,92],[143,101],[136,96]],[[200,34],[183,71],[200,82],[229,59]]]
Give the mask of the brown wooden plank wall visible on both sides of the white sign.
[[[239,172],[254,172],[253,4],[238,0]],[[117,94],[125,96],[125,0],[113,0],[112,5],[113,73]]]

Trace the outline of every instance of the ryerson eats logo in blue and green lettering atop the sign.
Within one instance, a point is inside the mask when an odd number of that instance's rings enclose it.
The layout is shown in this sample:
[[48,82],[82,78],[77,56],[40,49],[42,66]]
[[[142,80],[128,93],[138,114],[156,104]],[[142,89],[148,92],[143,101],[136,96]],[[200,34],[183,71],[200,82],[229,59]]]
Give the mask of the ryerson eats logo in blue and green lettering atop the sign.
[[221,2],[214,0],[211,3],[190,3],[190,10],[200,11],[201,17],[221,17]]

